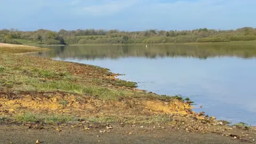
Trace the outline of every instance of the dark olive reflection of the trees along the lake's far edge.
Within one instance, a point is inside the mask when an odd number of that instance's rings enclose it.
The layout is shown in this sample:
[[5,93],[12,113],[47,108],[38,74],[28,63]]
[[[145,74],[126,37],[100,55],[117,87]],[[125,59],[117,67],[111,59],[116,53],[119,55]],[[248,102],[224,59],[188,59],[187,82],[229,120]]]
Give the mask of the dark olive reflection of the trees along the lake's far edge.
[[40,57],[103,59],[121,57],[211,57],[252,58],[256,55],[253,45],[150,45],[145,46],[60,46],[52,51],[38,53]]

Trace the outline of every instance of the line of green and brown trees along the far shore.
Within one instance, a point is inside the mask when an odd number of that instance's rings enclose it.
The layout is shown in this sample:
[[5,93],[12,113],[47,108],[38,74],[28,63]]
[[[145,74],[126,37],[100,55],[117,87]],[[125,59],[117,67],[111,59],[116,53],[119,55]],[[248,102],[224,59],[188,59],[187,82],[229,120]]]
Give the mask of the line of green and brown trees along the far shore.
[[51,31],[38,29],[20,31],[18,29],[0,30],[0,43],[21,44],[17,39],[33,41],[37,44],[86,44],[86,43],[205,43],[256,40],[256,28],[243,27],[235,30],[215,30],[199,28],[194,30],[156,30],[120,31],[77,29]]

